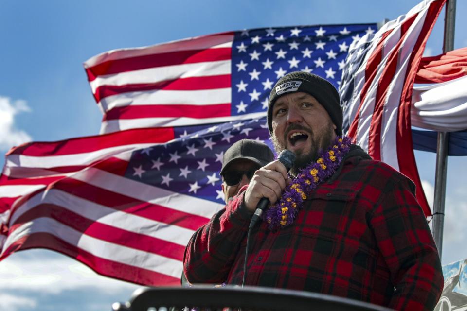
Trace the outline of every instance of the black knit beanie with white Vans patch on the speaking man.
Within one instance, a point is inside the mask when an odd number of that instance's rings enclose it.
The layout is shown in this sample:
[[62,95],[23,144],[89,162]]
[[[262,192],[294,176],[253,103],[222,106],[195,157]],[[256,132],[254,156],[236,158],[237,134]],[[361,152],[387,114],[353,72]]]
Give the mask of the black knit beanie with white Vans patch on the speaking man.
[[313,73],[295,71],[287,73],[277,81],[269,95],[268,126],[272,134],[272,107],[275,101],[290,92],[305,92],[314,98],[326,109],[329,117],[337,126],[336,134],[342,135],[342,108],[339,93],[327,80]]

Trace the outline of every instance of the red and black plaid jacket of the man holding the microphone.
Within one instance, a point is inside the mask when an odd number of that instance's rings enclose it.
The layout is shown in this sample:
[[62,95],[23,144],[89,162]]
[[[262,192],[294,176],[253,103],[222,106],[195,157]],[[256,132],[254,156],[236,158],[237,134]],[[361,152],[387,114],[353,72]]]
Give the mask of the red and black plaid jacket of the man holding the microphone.
[[[246,285],[433,310],[443,289],[441,262],[413,183],[361,156],[347,157],[333,177],[308,196],[293,225],[253,228]],[[241,284],[251,218],[242,200],[243,193],[192,237],[184,259],[189,281]]]

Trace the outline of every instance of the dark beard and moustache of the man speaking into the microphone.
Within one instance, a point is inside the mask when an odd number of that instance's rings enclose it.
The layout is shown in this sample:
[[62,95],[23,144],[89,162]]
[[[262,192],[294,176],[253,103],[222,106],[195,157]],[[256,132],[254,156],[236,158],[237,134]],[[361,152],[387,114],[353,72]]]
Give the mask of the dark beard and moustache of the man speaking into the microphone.
[[[296,177],[303,168],[318,159],[318,155],[324,150],[324,148],[327,148],[331,145],[335,137],[335,133],[332,127],[330,127],[329,130],[315,135],[315,133],[310,128],[306,128],[299,124],[290,124],[285,131],[284,141],[287,141],[288,133],[291,130],[301,130],[305,132],[308,135],[308,138],[311,140],[310,150],[307,153],[303,150],[297,150],[294,152],[295,163],[293,164],[289,173],[293,177]],[[271,136],[271,140],[277,154],[280,154],[284,149],[286,149],[286,146],[282,144],[275,135]]]

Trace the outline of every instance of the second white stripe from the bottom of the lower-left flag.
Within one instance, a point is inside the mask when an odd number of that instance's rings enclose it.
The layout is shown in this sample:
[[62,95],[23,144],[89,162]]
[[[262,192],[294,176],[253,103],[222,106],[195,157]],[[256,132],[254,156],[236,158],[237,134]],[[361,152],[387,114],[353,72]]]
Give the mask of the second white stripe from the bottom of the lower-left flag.
[[77,197],[66,191],[49,189],[40,191],[13,211],[9,226],[18,218],[40,204],[54,204],[95,222],[134,233],[144,234],[163,241],[185,246],[194,231],[177,225],[168,225],[131,213],[106,207]]

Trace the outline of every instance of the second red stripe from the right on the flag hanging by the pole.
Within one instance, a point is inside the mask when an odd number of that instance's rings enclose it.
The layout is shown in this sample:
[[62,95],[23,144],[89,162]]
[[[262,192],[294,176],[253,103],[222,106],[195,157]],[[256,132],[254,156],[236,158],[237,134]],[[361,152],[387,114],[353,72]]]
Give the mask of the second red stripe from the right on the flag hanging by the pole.
[[393,77],[398,66],[402,65],[399,64],[399,52],[404,44],[404,39],[408,34],[408,30],[415,21],[417,15],[418,14],[413,15],[402,23],[400,27],[400,39],[388,56],[388,61],[381,74],[381,79],[378,82],[368,144],[368,154],[376,160],[381,160],[381,125],[386,97],[388,96],[388,91],[390,91],[389,86],[393,82]]

